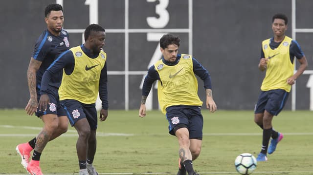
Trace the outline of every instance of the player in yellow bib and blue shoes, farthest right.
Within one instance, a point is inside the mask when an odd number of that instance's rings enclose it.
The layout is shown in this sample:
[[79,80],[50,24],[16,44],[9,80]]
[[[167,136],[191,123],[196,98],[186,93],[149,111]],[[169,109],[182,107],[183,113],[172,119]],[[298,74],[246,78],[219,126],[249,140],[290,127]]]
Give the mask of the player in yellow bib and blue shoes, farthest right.
[[[285,35],[288,18],[284,14],[272,17],[274,37],[262,42],[259,69],[266,71],[261,93],[254,109],[254,121],[263,129],[262,149],[257,161],[267,161],[277,143],[284,137],[273,129],[272,119],[284,108],[291,85],[308,67],[308,62],[297,41]],[[300,66],[294,73],[294,57]],[[269,139],[272,137],[268,147]]]

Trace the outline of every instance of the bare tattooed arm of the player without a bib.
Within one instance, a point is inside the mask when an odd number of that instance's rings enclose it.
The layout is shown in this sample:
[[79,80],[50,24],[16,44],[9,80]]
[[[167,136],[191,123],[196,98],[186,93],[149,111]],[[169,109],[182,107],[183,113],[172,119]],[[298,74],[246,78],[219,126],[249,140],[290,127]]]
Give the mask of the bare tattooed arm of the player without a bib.
[[25,107],[25,111],[28,115],[33,115],[37,109],[36,72],[41,66],[41,63],[41,61],[31,58],[27,69],[27,82],[30,98]]

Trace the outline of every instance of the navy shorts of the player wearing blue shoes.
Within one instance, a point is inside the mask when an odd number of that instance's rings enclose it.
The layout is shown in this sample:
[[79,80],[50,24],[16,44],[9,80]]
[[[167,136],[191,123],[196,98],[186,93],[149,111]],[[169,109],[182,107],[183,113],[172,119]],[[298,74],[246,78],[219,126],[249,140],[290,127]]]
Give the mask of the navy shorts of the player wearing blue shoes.
[[277,116],[284,108],[288,96],[289,93],[283,89],[261,91],[254,114],[264,113],[264,110],[267,110],[271,115]]

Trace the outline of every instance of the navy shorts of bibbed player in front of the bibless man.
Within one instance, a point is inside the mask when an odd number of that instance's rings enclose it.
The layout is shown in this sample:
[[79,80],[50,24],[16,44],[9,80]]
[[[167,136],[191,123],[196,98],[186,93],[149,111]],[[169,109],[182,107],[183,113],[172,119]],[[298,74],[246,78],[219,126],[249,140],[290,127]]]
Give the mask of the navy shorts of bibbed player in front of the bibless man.
[[78,120],[87,118],[90,129],[97,129],[98,118],[95,103],[84,104],[74,99],[61,100],[60,103],[67,113],[67,118],[71,126],[74,126]]

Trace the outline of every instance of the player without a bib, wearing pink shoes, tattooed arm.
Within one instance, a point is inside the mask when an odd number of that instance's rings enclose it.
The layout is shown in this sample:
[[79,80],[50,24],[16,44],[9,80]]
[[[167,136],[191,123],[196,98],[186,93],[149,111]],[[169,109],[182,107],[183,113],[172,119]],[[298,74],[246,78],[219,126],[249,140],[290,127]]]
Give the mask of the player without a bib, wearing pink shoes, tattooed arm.
[[[48,84],[47,95],[50,97],[50,103],[45,106],[46,110],[37,108],[40,98],[40,84],[45,70],[55,58],[69,49],[67,31],[62,29],[64,16],[60,4],[53,3],[46,6],[45,22],[47,29],[35,44],[27,70],[30,99],[25,107],[28,115],[35,113],[37,117],[43,120],[44,127],[37,137],[16,147],[18,154],[22,157],[22,165],[31,175],[43,174],[39,166],[39,160],[45,145],[48,141],[65,133],[68,125],[66,113],[59,105],[58,88],[62,71],[57,72]],[[32,150],[34,150],[33,156],[31,161],[28,162]]]

